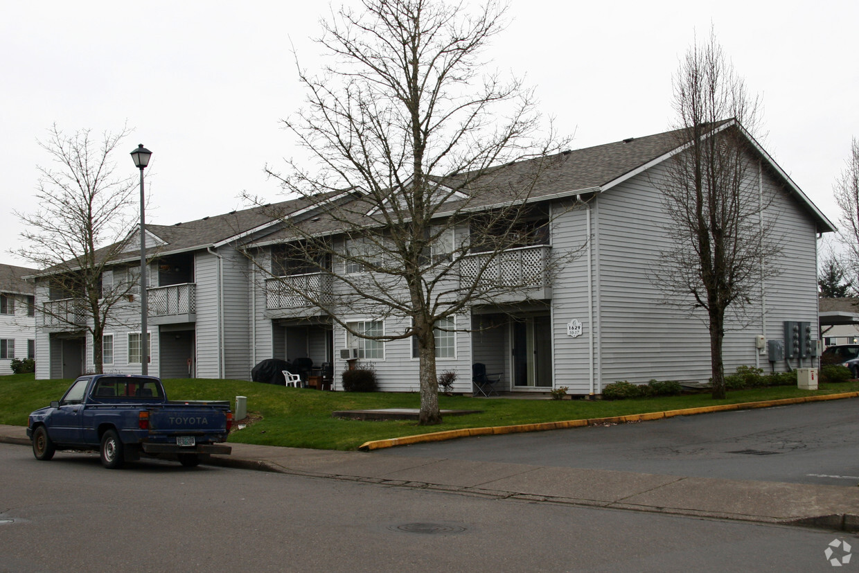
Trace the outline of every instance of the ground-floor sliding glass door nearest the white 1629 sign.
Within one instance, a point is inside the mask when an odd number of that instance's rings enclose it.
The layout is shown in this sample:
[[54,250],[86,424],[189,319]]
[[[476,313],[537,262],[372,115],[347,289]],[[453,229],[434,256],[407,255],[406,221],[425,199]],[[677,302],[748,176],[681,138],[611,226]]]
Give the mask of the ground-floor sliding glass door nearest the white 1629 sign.
[[551,329],[548,316],[512,323],[514,387],[551,387]]

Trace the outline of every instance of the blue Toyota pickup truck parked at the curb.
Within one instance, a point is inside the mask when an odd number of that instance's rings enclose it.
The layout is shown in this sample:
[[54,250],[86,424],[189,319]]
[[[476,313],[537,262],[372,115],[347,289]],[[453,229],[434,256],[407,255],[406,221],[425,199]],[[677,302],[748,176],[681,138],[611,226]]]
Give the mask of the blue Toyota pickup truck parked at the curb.
[[141,454],[175,454],[183,466],[201,456],[229,454],[233,412],[227,401],[169,401],[155,376],[88,375],[58,402],[34,411],[27,436],[37,460],[57,448],[101,452],[101,464],[121,467]]

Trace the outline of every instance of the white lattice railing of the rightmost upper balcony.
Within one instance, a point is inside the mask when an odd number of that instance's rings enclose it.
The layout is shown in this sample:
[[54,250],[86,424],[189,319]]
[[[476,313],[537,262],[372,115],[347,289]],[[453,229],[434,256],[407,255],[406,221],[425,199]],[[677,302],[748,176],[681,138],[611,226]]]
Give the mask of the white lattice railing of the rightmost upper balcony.
[[542,289],[549,286],[546,275],[549,253],[547,245],[509,249],[496,254],[493,260],[488,254],[475,253],[460,261],[460,272],[463,280],[467,280],[484,269],[480,283],[489,287]]

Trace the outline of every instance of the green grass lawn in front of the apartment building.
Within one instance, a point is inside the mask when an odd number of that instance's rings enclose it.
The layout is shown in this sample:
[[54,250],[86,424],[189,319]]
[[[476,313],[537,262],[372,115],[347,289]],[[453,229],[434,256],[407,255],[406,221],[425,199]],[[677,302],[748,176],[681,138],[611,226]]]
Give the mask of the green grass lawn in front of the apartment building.
[[[0,376],[0,424],[26,425],[27,414],[51,400],[60,399],[68,380],[34,380],[34,375]],[[512,424],[536,424],[581,418],[603,418],[649,411],[679,410],[706,405],[756,402],[859,391],[859,381],[821,384],[817,391],[797,387],[739,390],[723,400],[709,393],[663,398],[608,400],[479,399],[439,396],[442,409],[480,410],[466,416],[450,416],[436,426],[412,421],[360,422],[331,417],[332,411],[365,408],[417,408],[417,393],[320,392],[235,380],[166,380],[170,399],[224,399],[235,405],[236,396],[247,396],[247,409],[262,416],[255,424],[230,436],[230,442],[295,448],[352,450],[363,442],[412,436],[441,430]]]

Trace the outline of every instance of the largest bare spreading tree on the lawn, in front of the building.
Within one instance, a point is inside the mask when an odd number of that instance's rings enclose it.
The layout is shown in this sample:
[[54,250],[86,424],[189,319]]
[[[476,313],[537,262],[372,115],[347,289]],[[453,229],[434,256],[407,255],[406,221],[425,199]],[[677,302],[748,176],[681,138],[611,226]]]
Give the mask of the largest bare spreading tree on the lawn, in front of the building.
[[[540,136],[533,94],[519,80],[484,75],[482,52],[503,29],[503,15],[494,1],[472,9],[436,0],[364,0],[360,11],[340,9],[323,22],[318,40],[332,64],[320,76],[300,70],[307,107],[284,120],[318,169],[290,162],[289,174],[271,173],[286,192],[312,198],[321,215],[287,220],[300,240],[292,248],[301,251],[290,256],[332,272],[347,287],[336,299],[284,288],[352,336],[414,337],[421,424],[441,421],[436,334],[470,328],[461,319],[472,305],[539,278],[490,279],[506,249],[538,241],[548,230],[547,215],[529,198],[557,156],[509,163],[564,144],[551,133]],[[508,167],[493,169],[499,165]],[[352,193],[338,196],[344,188]],[[320,239],[326,229],[344,235],[345,247]],[[346,311],[393,316],[408,326],[356,327],[340,318]]]

